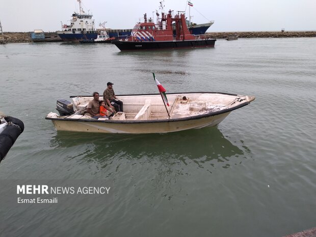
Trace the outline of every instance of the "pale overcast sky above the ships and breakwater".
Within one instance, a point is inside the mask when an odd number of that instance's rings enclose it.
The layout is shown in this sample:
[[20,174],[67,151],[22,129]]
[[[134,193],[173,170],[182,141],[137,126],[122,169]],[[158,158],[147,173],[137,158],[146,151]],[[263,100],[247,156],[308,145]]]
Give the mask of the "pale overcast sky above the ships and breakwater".
[[[144,13],[159,10],[161,0],[82,0],[99,22],[112,29],[131,29]],[[192,21],[215,23],[207,32],[304,31],[316,30],[316,0],[192,0]],[[0,21],[4,32],[61,30],[78,11],[76,0],[0,0]],[[165,0],[165,11],[187,10],[186,0]]]

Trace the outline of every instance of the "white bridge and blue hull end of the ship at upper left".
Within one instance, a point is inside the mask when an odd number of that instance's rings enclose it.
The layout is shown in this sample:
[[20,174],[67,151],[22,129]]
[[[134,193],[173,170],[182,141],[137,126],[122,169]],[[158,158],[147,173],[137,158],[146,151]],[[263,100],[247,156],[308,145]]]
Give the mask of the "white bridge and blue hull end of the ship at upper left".
[[62,23],[62,31],[57,31],[57,34],[63,41],[79,42],[82,40],[94,40],[97,38],[98,33],[94,27],[94,19],[92,14],[85,13],[79,2],[80,12],[74,12],[70,20],[70,24]]

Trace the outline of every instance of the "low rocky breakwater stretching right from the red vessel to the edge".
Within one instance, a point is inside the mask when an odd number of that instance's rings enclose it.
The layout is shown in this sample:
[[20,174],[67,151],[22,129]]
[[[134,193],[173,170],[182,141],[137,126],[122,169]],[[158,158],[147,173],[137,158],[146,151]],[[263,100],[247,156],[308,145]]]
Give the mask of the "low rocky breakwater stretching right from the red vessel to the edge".
[[207,32],[205,35],[213,39],[226,39],[234,35],[238,35],[238,38],[297,38],[316,37],[316,31]]

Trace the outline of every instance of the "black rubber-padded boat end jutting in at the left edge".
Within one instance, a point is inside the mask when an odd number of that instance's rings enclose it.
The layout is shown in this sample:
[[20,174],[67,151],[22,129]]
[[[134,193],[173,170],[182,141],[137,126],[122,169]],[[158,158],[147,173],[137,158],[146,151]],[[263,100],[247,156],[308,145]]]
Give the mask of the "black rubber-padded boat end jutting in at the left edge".
[[5,159],[8,151],[24,130],[21,120],[0,115],[0,162]]

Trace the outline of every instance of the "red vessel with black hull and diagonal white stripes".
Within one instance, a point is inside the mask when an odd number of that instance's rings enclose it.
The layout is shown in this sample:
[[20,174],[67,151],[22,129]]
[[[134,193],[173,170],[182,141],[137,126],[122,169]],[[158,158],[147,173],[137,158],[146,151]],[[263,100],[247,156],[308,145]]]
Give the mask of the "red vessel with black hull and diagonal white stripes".
[[[161,4],[163,10],[163,5]],[[166,49],[166,48],[195,48],[195,47],[214,47],[216,39],[206,38],[205,35],[192,35],[188,30],[185,14],[178,12],[172,16],[171,10],[168,14],[162,11],[162,17],[157,15],[157,23],[149,18],[147,21],[146,13],[144,22],[135,25],[131,36],[125,41],[112,41],[121,51],[122,50],[145,50],[145,49]],[[175,36],[173,27],[175,26]]]

